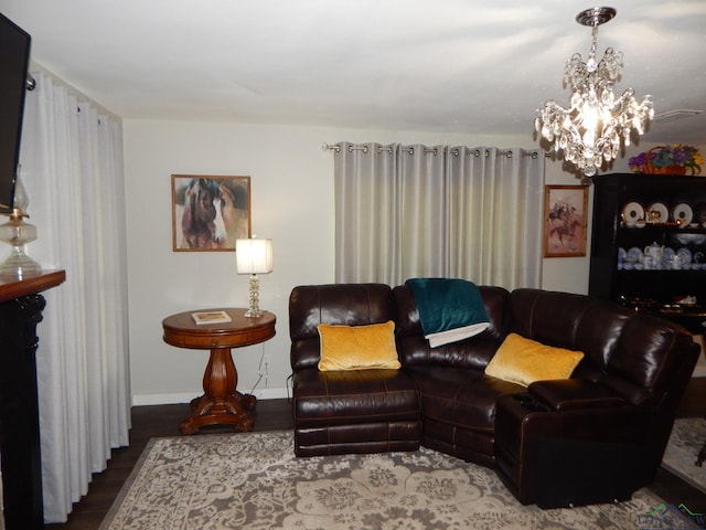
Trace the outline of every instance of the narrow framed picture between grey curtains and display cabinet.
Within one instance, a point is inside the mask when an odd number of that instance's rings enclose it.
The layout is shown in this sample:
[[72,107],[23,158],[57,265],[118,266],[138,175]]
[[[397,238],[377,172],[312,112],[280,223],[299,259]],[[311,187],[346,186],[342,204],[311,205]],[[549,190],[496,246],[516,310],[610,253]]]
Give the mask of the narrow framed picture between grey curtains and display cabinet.
[[586,255],[588,188],[544,187],[544,257]]

